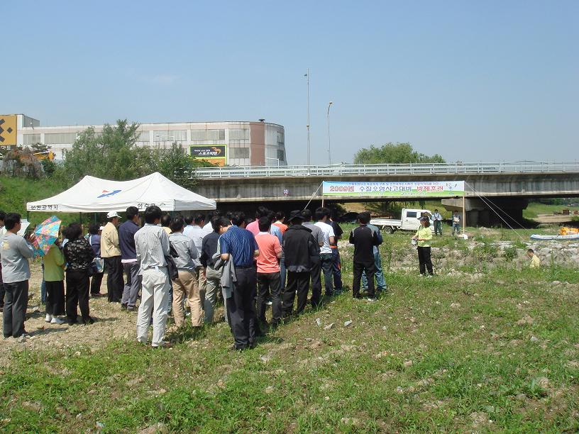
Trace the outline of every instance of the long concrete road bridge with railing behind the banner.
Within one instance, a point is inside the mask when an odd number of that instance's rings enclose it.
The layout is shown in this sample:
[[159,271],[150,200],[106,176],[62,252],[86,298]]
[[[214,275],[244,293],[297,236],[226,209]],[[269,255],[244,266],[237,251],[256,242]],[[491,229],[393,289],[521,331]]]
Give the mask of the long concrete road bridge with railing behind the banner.
[[[215,167],[197,169],[191,176],[199,179],[197,193],[215,199],[221,208],[236,209],[253,209],[257,204],[274,209],[299,208],[310,199],[315,206],[322,199],[326,203],[417,200],[413,196],[323,198],[320,188],[323,181],[465,181],[465,209],[472,225],[494,223],[489,206],[495,205],[521,220],[527,199],[579,196],[579,162]],[[444,199],[446,208],[462,209],[462,199],[442,196],[429,199]]]

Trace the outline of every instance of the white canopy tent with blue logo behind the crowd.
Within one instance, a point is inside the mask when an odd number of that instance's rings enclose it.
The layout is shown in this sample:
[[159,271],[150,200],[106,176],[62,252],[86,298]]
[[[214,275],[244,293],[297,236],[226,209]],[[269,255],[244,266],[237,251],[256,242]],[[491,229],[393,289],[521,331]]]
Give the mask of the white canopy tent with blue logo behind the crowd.
[[124,212],[129,206],[140,211],[156,205],[162,211],[215,209],[213,199],[193,193],[155,172],[131,181],[109,181],[86,176],[56,196],[28,202],[26,211],[52,213]]

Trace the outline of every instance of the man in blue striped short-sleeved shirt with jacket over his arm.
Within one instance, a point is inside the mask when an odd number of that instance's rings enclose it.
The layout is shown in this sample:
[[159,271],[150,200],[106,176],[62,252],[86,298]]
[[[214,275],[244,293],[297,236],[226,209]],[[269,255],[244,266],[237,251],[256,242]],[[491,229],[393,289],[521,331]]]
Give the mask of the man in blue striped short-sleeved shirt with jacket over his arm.
[[221,260],[233,261],[237,282],[233,284],[231,297],[227,299],[227,315],[231,321],[231,332],[236,350],[255,347],[255,291],[257,270],[255,257],[259,256],[258,243],[253,233],[238,227],[241,216],[232,216],[226,233],[219,238]]

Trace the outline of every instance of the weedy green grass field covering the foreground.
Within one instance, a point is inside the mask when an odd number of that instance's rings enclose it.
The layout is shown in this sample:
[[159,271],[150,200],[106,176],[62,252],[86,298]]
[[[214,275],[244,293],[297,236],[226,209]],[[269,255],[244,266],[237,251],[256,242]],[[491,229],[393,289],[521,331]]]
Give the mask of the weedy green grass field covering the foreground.
[[[408,235],[386,243],[396,260]],[[0,430],[577,431],[579,272],[516,263],[392,272],[377,302],[326,299],[243,353],[224,323],[185,328],[171,350],[18,350],[0,372]],[[343,274],[350,286],[349,261]]]

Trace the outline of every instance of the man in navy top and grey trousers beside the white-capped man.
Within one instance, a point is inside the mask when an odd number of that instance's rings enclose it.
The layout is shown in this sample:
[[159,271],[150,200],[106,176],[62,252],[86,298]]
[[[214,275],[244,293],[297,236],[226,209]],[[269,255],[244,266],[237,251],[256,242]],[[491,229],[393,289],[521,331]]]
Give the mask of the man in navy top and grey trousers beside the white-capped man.
[[126,283],[121,299],[121,311],[135,311],[141,277],[138,275],[137,250],[135,234],[139,230],[138,208],[129,206],[126,209],[126,222],[118,227],[118,244],[121,247],[121,263],[126,275]]

